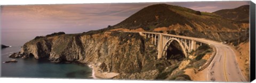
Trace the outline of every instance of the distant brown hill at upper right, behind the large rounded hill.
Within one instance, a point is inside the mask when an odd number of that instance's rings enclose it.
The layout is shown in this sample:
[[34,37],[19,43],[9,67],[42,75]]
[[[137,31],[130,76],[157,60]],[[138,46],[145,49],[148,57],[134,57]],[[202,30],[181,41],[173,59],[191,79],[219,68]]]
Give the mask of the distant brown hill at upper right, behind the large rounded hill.
[[235,9],[225,9],[213,12],[235,21],[249,22],[250,5],[239,6]]

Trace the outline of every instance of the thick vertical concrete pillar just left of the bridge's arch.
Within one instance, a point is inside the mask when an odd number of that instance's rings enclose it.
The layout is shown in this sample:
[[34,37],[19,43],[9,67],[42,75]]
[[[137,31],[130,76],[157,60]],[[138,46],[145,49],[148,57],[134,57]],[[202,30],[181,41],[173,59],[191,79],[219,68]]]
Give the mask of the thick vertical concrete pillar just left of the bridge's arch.
[[159,34],[158,36],[158,45],[157,45],[157,59],[162,58],[162,52],[163,52],[163,35]]

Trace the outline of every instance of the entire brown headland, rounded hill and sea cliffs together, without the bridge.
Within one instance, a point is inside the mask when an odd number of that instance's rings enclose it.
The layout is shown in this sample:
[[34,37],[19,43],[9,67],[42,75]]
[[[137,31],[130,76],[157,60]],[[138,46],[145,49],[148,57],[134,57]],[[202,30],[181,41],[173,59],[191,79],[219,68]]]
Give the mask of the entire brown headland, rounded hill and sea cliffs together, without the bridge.
[[[170,45],[171,59],[157,59],[157,46],[139,33],[119,31],[153,31],[173,35],[227,41],[231,45],[246,42],[247,24],[167,4],[147,6],[124,21],[101,30],[81,34],[53,33],[28,41],[19,53],[10,57],[34,57],[55,63],[77,62],[98,68],[95,71],[117,73],[111,79],[196,80],[194,76],[205,64],[213,49],[202,45],[183,57],[178,43]],[[241,31],[238,31],[241,29]],[[243,31],[244,30],[244,31]],[[239,42],[237,41],[239,40]],[[188,72],[190,71],[190,72]],[[187,74],[186,74],[187,73]],[[201,77],[200,77],[201,76]],[[204,80],[204,79],[203,79]]]

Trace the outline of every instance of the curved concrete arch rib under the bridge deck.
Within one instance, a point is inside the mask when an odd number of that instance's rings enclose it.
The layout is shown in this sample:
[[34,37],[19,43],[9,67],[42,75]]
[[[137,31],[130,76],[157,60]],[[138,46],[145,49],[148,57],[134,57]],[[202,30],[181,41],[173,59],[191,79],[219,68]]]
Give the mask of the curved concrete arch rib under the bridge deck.
[[168,47],[172,44],[173,41],[177,41],[177,43],[181,47],[182,53],[185,55],[185,57],[187,57],[187,52],[186,52],[186,49],[184,47],[185,45],[183,45],[182,42],[177,38],[171,38],[171,39],[166,41],[166,43],[164,44],[164,49],[163,49],[163,52],[162,52],[162,56],[166,57],[166,59],[167,59],[167,50],[168,50]]

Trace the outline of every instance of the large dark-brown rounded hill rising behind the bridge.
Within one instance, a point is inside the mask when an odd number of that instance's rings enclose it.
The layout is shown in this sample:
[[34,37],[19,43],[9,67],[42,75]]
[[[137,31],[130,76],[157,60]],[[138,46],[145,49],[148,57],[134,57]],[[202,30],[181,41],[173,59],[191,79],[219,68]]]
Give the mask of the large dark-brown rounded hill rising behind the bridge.
[[249,24],[226,19],[215,13],[195,11],[175,5],[155,4],[106,29],[164,32],[238,45],[232,40],[242,38],[242,34],[246,34],[249,30]]

